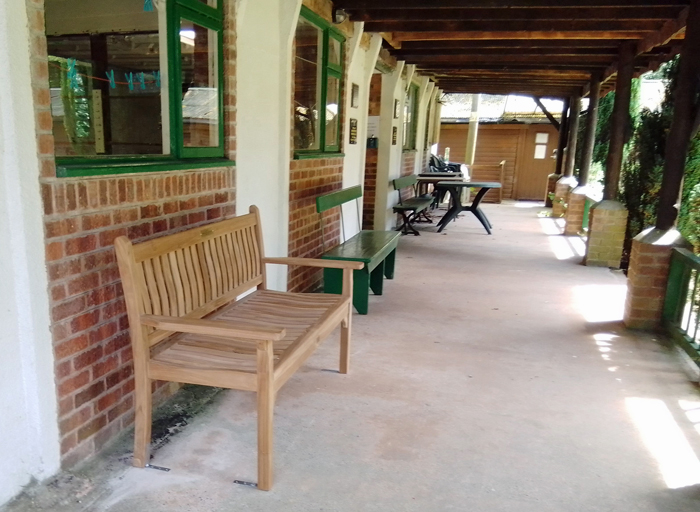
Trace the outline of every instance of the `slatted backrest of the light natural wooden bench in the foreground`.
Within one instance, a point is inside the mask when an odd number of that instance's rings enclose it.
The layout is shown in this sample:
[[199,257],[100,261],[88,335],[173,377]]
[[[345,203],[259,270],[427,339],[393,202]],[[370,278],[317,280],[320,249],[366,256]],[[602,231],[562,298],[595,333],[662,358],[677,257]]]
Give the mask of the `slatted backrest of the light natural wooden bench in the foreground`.
[[[115,241],[132,315],[201,318],[264,282],[257,212],[132,245]],[[124,265],[125,258],[131,258]],[[129,281],[127,283],[127,281]],[[131,302],[131,303],[130,303]],[[137,309],[137,311],[133,311]],[[149,344],[170,333],[148,330]]]

